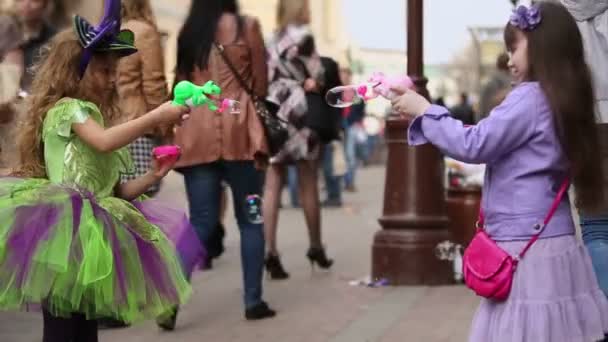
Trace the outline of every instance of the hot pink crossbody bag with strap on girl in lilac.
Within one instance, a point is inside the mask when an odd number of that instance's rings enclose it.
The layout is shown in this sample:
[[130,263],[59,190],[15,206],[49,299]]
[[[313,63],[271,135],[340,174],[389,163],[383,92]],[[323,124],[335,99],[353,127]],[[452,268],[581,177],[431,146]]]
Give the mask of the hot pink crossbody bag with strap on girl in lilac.
[[570,181],[566,179],[559,189],[542,225],[537,225],[538,233],[528,241],[528,244],[516,256],[511,256],[505,252],[488,235],[484,229],[483,211],[480,210],[479,220],[477,221],[477,232],[463,255],[465,284],[479,296],[495,301],[506,300],[511,292],[517,264],[523,259],[528,249],[538,240],[540,234],[555,214],[569,186]]

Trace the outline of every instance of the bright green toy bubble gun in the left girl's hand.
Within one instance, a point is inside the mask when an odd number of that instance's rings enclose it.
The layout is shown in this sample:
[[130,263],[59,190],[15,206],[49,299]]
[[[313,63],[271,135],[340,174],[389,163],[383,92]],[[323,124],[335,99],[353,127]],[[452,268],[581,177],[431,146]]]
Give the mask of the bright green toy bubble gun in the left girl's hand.
[[173,90],[173,104],[178,106],[209,107],[211,111],[217,111],[218,106],[213,99],[219,96],[222,89],[213,81],[208,81],[203,86],[198,86],[190,81],[181,81],[175,85]]

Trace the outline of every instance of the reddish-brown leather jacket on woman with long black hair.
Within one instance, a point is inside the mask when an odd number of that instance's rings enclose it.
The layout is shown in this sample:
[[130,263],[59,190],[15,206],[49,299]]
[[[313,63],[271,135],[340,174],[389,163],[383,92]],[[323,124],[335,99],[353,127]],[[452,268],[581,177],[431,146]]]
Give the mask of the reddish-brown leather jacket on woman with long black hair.
[[[243,34],[237,35],[236,20],[225,15],[218,24],[218,43],[238,70],[241,77],[253,85],[257,96],[265,97],[268,88],[266,48],[256,19],[244,18]],[[238,38],[226,42],[222,37]],[[222,88],[222,97],[240,102],[240,113],[214,113],[207,107],[196,107],[190,119],[175,130],[175,143],[182,147],[182,157],[176,167],[186,167],[216,160],[263,160],[268,154],[262,124],[253,102],[241,88],[219,51],[212,48],[209,67],[195,69],[188,79],[195,84],[215,81]]]

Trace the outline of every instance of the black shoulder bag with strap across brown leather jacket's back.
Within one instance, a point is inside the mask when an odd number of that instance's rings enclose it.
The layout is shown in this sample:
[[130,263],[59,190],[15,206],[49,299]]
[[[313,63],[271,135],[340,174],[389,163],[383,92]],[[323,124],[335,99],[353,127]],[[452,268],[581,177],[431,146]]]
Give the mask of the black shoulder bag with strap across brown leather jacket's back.
[[254,92],[251,87],[247,85],[245,80],[239,75],[236,71],[236,68],[230,62],[230,59],[224,53],[224,47],[219,44],[215,44],[215,47],[220,52],[220,55],[228,65],[228,68],[234,75],[234,77],[239,81],[241,87],[247,92],[251,101],[253,101],[253,105],[255,107],[255,112],[260,118],[262,126],[264,127],[264,135],[266,136],[266,142],[268,143],[268,149],[270,150],[270,155],[277,154],[283,145],[289,139],[289,134],[287,131],[287,121],[282,120],[277,116],[277,112],[279,111],[279,106],[273,102],[266,101],[260,99]]

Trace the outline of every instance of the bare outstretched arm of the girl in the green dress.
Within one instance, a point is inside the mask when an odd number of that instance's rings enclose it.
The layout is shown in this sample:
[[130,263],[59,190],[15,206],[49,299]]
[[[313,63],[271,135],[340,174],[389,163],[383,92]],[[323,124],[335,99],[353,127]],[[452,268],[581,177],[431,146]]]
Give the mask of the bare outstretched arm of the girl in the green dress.
[[127,146],[138,137],[161,125],[180,123],[188,118],[185,106],[166,102],[149,113],[123,124],[104,128],[89,118],[84,123],[73,123],[72,130],[84,142],[99,152],[111,152]]

